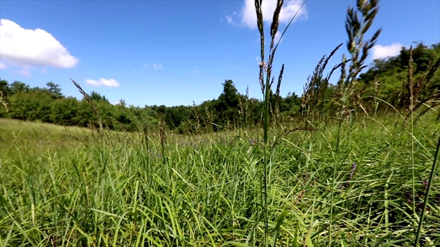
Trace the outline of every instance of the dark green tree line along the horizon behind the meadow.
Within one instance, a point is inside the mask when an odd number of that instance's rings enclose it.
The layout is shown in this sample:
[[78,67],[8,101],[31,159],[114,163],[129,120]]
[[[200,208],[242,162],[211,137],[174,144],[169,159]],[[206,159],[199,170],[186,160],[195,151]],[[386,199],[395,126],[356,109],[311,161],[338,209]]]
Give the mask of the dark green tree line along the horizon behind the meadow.
[[[440,43],[428,47],[420,42],[414,49],[403,47],[397,56],[374,60],[366,72],[360,73],[350,97],[366,114],[381,113],[391,106],[404,111],[437,107],[440,105],[439,65]],[[333,103],[347,95],[338,93],[338,85],[326,81],[320,69],[321,61],[301,97],[295,93],[281,97],[278,90],[271,92],[270,116],[274,121],[332,114]],[[124,100],[113,105],[96,91],[88,96],[102,119],[102,127],[109,130],[140,131],[145,127],[157,128],[162,122],[169,130],[184,134],[259,124],[261,100],[250,98],[247,92],[239,93],[232,80],[225,80],[222,85],[223,91],[217,99],[192,106],[128,106]],[[97,126],[96,112],[90,102],[85,97],[63,95],[60,85],[54,82],[47,82],[44,88],[31,88],[24,82],[0,80],[0,91],[4,106],[0,107],[0,117],[63,126]]]

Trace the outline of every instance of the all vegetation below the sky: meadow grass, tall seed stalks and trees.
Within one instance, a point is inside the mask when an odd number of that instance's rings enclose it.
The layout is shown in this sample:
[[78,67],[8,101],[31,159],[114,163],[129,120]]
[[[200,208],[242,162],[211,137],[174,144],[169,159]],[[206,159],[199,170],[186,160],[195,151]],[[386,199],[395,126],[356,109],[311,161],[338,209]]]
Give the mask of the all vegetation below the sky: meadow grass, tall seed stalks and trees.
[[198,106],[144,108],[2,80],[0,247],[439,246],[440,43],[361,73],[380,30],[364,37],[378,3],[357,1],[348,58],[325,75],[339,45],[281,97],[277,3],[266,63],[255,1],[261,101],[232,80]]

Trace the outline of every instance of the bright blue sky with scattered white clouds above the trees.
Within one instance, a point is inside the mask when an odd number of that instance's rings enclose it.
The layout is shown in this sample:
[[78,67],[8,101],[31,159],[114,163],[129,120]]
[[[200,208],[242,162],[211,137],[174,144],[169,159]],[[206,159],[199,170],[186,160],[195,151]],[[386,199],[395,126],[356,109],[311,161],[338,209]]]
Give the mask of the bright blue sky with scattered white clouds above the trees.
[[[270,19],[274,0],[263,1]],[[303,1],[285,1],[281,29]],[[345,43],[347,8],[355,0],[309,0],[281,40],[276,75],[285,63],[281,94],[301,95],[320,58]],[[240,93],[258,82],[259,32],[253,1],[0,1],[0,78],[30,86],[70,82],[110,102],[190,105],[217,98],[224,80]],[[270,21],[266,23],[269,36]],[[440,42],[440,1],[382,0],[369,37],[382,28],[372,58],[394,56],[400,47]],[[347,54],[343,45],[331,66]],[[335,76],[335,78],[338,76]]]

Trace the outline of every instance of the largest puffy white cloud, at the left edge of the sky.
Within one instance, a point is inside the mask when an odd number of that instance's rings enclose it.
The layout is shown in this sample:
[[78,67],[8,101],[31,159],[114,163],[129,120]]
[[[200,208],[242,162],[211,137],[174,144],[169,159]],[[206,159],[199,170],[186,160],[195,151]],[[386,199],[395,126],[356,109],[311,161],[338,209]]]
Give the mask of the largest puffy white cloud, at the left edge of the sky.
[[22,68],[72,68],[78,58],[52,36],[37,28],[28,30],[7,19],[0,19],[0,57],[3,65]]

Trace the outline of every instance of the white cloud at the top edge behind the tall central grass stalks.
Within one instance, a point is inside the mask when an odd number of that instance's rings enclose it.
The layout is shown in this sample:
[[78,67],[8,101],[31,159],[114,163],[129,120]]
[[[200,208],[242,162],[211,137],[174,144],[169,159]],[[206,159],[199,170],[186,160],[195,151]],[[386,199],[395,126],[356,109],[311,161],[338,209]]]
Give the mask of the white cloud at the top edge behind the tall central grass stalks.
[[[298,18],[307,18],[307,10],[305,5],[303,5],[304,0],[286,0],[284,1],[283,7],[280,12],[280,23],[287,24],[296,15],[294,21]],[[261,9],[263,10],[263,21],[266,23],[272,23],[276,8],[276,1],[274,0],[263,0],[261,4]],[[228,19],[230,17],[230,21]],[[232,16],[226,16],[228,23],[234,23]],[[241,12],[241,23],[252,29],[256,28],[256,13],[255,5],[253,0],[245,0],[243,10]]]

